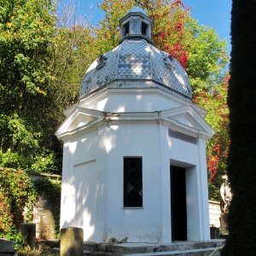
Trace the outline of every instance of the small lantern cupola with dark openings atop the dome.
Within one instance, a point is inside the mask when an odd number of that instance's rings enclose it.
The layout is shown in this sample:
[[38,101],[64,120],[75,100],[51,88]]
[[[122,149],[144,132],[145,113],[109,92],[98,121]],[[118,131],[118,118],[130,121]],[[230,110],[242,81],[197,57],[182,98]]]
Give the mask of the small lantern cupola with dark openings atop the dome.
[[151,24],[147,11],[134,6],[120,20],[121,41],[125,39],[145,39],[149,44],[153,44],[151,40]]

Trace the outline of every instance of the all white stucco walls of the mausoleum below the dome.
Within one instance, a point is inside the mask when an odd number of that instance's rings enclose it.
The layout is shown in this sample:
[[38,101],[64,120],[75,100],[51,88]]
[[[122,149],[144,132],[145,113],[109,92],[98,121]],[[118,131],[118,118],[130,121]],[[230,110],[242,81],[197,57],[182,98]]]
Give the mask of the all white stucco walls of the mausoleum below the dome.
[[[130,242],[170,243],[172,164],[186,169],[188,240],[208,240],[205,113],[193,105],[172,115],[172,109],[189,104],[166,90],[111,89],[81,100],[80,109],[70,108],[70,118],[58,131],[64,141],[61,228],[83,228],[84,241],[128,237]],[[166,115],[159,112],[167,109]],[[129,114],[112,117],[111,112]],[[196,143],[170,137],[168,130],[178,125]],[[129,156],[143,158],[141,208],[123,207],[123,159]]]

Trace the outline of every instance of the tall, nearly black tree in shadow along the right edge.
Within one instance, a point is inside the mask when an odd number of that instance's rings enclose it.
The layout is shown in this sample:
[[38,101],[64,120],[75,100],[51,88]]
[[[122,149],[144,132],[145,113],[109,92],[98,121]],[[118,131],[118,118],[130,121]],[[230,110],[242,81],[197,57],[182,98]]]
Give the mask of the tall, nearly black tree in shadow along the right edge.
[[255,1],[232,2],[228,175],[233,198],[224,255],[255,255],[256,252],[255,10]]

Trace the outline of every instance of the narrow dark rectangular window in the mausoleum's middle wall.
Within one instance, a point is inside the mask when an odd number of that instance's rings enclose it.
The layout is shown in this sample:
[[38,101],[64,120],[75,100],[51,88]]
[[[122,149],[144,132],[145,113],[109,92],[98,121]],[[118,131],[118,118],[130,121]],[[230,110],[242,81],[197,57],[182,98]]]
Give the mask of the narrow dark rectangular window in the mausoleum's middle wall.
[[124,207],[143,207],[143,158],[124,158]]

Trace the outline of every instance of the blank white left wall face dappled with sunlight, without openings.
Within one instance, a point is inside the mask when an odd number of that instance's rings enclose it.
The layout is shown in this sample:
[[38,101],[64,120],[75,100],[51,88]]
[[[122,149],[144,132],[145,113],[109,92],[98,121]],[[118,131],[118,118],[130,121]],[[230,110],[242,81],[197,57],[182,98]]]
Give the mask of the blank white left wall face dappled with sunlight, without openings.
[[61,187],[61,228],[84,229],[84,241],[103,241],[105,170],[98,131],[64,143]]

